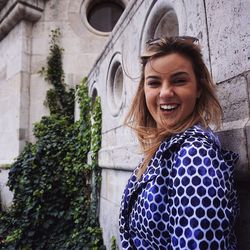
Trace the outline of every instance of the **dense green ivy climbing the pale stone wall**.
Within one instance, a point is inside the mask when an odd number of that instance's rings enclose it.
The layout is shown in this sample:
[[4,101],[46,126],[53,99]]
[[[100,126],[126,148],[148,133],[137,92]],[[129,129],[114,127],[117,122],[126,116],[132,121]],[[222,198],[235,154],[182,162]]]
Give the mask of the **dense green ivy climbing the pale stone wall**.
[[80,120],[73,121],[74,90],[64,83],[59,37],[59,30],[52,31],[41,71],[53,86],[46,98],[51,115],[35,124],[36,143],[28,143],[11,166],[14,199],[0,215],[0,249],[105,249],[97,216],[100,99],[90,105],[83,79],[77,90]]

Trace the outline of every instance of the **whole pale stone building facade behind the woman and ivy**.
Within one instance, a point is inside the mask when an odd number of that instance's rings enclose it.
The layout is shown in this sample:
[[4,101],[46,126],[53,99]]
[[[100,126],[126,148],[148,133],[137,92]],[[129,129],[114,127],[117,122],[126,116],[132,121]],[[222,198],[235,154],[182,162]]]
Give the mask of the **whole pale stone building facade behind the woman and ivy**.
[[250,1],[106,1],[124,8],[112,32],[88,18],[91,13],[103,15],[98,8],[94,12],[102,3],[0,0],[0,165],[11,163],[25,141],[34,140],[32,124],[48,113],[43,101],[49,86],[38,71],[46,62],[49,33],[59,27],[66,82],[74,86],[88,75],[90,94],[101,96],[100,223],[107,248],[112,236],[119,244],[122,191],[141,158],[135,136],[123,126],[137,87],[138,58],[149,38],[196,36],[224,110],[218,134],[226,148],[240,155],[236,170],[242,208],[237,234],[239,249],[246,249],[250,245]]

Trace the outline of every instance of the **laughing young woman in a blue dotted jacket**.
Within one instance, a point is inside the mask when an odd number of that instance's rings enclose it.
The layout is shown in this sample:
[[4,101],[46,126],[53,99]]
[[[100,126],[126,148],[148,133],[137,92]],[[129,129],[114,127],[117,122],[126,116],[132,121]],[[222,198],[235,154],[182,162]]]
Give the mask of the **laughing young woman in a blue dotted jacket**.
[[122,249],[236,249],[233,166],[209,124],[221,107],[198,40],[147,44],[127,124],[144,159],[125,188]]

